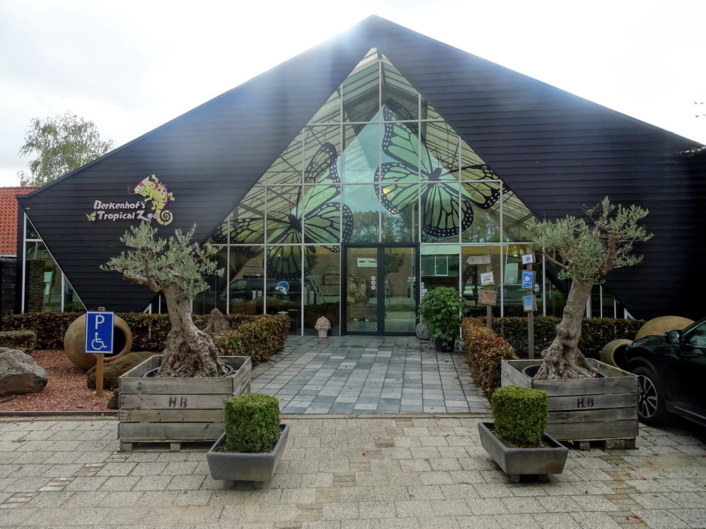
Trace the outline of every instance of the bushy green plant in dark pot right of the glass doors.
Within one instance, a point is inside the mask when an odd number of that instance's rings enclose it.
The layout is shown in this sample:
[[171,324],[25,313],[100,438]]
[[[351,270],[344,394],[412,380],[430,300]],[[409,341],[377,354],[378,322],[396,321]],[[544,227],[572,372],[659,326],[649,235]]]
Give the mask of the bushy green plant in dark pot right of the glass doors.
[[426,325],[436,351],[450,353],[456,343],[466,302],[456,288],[437,286],[419,301],[419,317]]

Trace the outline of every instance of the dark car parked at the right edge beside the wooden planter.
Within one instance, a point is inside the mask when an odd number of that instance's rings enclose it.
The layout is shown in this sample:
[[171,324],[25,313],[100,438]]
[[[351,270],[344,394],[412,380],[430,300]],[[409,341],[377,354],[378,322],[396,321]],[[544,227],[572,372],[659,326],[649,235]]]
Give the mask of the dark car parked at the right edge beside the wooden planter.
[[619,366],[638,375],[642,422],[661,425],[674,414],[706,426],[706,318],[635,340]]

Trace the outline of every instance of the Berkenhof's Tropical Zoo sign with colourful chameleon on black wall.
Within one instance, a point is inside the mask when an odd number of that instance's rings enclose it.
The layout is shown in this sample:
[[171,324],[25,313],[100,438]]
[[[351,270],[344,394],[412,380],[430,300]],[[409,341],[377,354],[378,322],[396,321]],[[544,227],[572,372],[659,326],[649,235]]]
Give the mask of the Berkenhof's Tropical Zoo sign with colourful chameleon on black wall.
[[[174,193],[169,193],[167,186],[159,181],[155,175],[148,176],[134,188],[128,188],[130,195],[140,195],[142,200],[126,200],[125,202],[93,202],[93,212],[86,213],[90,222],[138,220],[151,221],[155,219],[158,224],[167,226],[174,219],[172,212],[167,209],[169,200],[174,199]],[[152,202],[151,209],[148,204]]]

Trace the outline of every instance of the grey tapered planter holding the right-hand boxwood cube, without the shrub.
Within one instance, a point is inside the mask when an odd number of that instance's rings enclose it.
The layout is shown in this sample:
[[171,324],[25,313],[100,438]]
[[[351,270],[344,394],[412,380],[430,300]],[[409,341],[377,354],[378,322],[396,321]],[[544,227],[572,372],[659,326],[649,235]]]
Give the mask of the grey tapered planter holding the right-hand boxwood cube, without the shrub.
[[481,445],[511,480],[518,482],[522,475],[537,475],[540,481],[546,481],[549,474],[563,472],[569,450],[554,437],[544,434],[550,448],[508,448],[492,428],[493,422],[478,423]]

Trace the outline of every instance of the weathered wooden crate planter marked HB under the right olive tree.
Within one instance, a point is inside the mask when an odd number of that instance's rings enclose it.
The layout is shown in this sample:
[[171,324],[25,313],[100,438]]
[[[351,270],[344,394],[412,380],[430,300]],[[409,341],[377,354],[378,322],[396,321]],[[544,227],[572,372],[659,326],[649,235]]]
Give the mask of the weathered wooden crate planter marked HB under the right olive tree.
[[604,377],[575,380],[537,380],[522,369],[537,360],[503,360],[502,385],[546,391],[549,418],[546,433],[558,441],[604,441],[611,449],[634,448],[638,435],[638,377],[589,358]]

